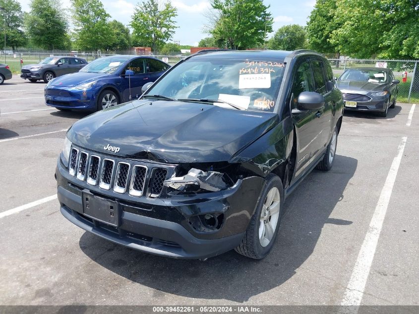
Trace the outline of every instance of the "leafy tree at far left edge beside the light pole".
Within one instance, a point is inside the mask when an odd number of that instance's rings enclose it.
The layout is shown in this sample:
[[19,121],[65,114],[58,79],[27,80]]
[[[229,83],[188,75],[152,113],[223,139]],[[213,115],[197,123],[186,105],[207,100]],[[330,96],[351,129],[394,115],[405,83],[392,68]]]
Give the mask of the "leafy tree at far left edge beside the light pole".
[[[27,38],[22,31],[23,12],[20,3],[15,0],[0,0],[6,31],[6,45],[16,50],[26,45]],[[4,38],[4,28],[1,28],[0,39]]]

